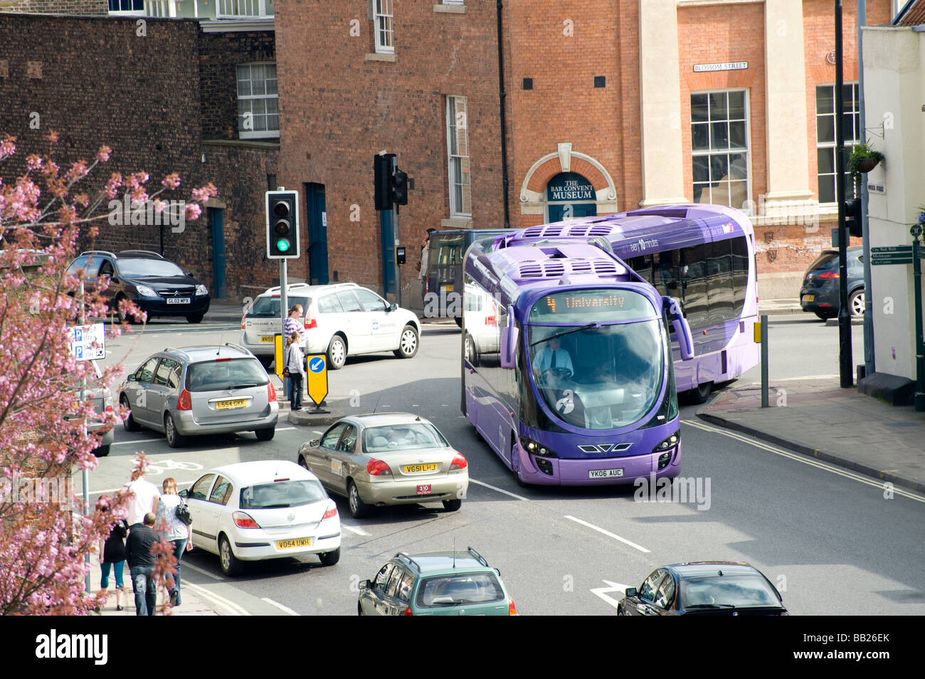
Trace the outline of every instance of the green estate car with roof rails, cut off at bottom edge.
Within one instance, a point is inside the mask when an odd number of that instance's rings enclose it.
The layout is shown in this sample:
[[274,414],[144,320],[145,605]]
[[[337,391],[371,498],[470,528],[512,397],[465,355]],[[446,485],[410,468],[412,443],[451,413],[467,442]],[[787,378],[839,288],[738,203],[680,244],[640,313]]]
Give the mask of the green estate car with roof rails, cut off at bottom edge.
[[359,615],[517,615],[500,572],[471,547],[396,554],[360,583]]

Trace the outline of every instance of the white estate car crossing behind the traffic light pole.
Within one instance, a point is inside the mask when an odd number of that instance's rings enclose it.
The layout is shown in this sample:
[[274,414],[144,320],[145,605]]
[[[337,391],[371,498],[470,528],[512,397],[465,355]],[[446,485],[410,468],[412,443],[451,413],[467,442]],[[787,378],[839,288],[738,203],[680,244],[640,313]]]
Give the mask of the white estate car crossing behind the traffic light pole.
[[[327,353],[333,370],[357,353],[394,352],[399,358],[417,353],[421,338],[417,316],[372,290],[356,283],[297,283],[287,287],[286,295],[290,308],[302,304],[306,355]],[[273,362],[274,336],[281,331],[279,314],[279,288],[270,288],[257,296],[240,320],[241,344],[267,367]]]

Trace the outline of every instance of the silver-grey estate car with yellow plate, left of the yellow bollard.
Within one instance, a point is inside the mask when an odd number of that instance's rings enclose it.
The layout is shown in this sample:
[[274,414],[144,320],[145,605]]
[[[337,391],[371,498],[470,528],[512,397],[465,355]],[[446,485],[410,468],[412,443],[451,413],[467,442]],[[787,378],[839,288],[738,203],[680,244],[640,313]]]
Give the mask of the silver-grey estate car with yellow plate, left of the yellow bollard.
[[279,414],[263,365],[230,342],[155,353],[125,378],[118,400],[129,409],[128,431],[162,431],[171,448],[190,436],[234,431],[253,431],[268,441]]

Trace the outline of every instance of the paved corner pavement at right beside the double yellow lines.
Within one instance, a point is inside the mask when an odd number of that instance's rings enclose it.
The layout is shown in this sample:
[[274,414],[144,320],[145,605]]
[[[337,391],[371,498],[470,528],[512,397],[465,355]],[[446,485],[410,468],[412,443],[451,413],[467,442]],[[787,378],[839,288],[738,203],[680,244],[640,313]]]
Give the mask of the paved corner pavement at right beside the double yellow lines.
[[837,376],[774,379],[724,389],[697,417],[792,451],[925,492],[925,413],[842,389]]

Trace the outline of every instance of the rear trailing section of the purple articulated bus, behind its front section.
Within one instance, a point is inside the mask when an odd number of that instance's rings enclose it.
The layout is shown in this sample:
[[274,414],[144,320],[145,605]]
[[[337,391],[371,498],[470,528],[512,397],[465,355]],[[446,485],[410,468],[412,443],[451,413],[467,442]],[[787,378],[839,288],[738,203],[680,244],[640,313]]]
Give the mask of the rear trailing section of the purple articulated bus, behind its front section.
[[555,240],[583,232],[607,239],[661,295],[681,303],[695,355],[682,361],[672,333],[674,377],[691,401],[707,401],[715,384],[759,364],[755,235],[747,216],[722,205],[656,205],[527,228],[524,235]]

